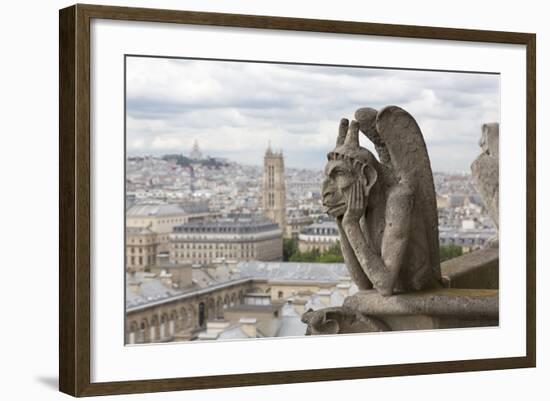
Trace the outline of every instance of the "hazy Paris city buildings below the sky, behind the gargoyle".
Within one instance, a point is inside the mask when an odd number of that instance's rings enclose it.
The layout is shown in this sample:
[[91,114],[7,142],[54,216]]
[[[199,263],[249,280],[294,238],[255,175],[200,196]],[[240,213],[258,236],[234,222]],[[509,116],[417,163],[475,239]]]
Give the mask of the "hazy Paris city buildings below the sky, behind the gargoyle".
[[[301,315],[357,291],[323,172],[203,153],[129,156],[126,343],[305,335]],[[468,173],[434,172],[441,258],[482,248],[496,230]]]

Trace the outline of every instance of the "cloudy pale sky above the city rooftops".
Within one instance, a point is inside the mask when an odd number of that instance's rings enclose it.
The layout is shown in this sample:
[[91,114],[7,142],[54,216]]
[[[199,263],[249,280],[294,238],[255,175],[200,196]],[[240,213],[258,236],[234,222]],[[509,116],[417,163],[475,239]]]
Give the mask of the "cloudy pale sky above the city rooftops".
[[420,125],[434,171],[469,171],[481,124],[499,121],[498,75],[126,60],[128,155],[188,154],[196,139],[203,154],[261,165],[271,142],[287,166],[322,168],[340,118],[397,105]]

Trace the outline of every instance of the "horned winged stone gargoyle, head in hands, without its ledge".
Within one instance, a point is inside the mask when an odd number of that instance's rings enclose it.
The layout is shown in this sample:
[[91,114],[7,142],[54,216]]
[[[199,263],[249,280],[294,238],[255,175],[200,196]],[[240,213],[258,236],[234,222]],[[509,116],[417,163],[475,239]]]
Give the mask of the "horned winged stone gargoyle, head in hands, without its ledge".
[[[379,160],[359,145],[361,131]],[[328,153],[323,205],[337,221],[342,253],[360,290],[389,296],[441,286],[439,230],[430,159],[405,110],[361,108],[342,119]]]

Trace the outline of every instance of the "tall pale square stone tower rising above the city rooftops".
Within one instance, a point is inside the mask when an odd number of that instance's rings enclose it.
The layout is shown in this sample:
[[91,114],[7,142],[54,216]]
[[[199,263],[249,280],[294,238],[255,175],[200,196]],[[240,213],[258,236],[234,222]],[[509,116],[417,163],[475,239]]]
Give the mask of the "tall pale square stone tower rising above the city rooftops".
[[273,152],[271,145],[265,151],[262,181],[262,208],[283,233],[286,223],[285,163],[282,152]]

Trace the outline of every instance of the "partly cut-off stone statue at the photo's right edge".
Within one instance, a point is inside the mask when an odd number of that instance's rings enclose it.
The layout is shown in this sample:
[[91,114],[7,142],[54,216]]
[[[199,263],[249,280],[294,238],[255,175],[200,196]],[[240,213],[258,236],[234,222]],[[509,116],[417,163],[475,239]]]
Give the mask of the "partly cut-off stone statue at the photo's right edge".
[[[499,219],[499,124],[484,124],[479,145],[482,153],[472,163],[474,184],[498,229]],[[496,240],[498,241],[498,239]],[[497,242],[498,247],[498,242]],[[495,247],[495,241],[491,242]]]

